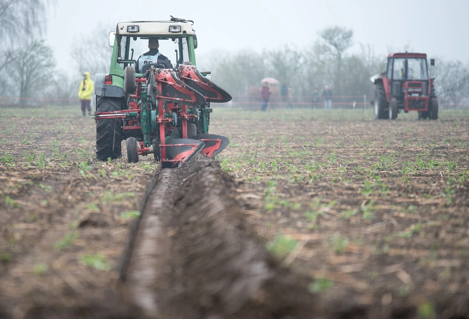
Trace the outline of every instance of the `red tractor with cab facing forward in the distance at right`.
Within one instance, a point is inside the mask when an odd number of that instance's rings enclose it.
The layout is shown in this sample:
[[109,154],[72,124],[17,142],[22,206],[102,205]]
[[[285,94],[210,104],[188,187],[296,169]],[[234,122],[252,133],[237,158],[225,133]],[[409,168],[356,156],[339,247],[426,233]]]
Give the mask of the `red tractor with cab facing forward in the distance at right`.
[[[431,59],[434,65],[435,60]],[[438,100],[433,80],[428,76],[424,53],[391,53],[382,77],[374,76],[375,119],[395,120],[403,110],[418,111],[419,120],[438,119]]]

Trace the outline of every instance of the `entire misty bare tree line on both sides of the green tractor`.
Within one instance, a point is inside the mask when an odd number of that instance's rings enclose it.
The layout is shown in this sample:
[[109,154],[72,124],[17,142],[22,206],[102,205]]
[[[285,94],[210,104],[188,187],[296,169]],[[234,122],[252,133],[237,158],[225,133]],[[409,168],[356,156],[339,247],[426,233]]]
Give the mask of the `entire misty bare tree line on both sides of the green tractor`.
[[[43,37],[47,9],[54,0],[0,0],[0,100],[10,103],[35,103],[35,98],[77,98],[82,74],[106,73],[112,49],[109,31],[114,26],[100,25],[74,39],[70,50],[70,68],[60,70],[53,50]],[[28,40],[24,40],[28,39]],[[314,89],[321,93],[329,85],[341,101],[360,101],[366,94],[373,99],[372,75],[385,69],[387,54],[377,54],[371,45],[359,44],[351,50],[353,31],[343,27],[325,28],[318,40],[304,47],[285,44],[275,49],[241,50],[200,57],[213,80],[226,88],[234,101],[246,97],[260,80],[272,77],[291,87],[294,101],[309,101]],[[409,49],[410,51],[410,49]],[[203,62],[205,61],[205,63]],[[469,104],[469,62],[437,58],[430,69],[440,103],[449,106]],[[336,99],[339,101],[339,98]],[[62,102],[62,103],[64,103]]]

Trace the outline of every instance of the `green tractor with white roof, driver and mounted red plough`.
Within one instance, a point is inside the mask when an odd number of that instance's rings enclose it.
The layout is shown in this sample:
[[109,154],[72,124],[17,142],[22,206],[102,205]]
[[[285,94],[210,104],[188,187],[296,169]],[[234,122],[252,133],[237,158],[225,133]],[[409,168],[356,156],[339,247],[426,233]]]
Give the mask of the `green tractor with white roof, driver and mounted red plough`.
[[121,157],[126,140],[128,162],[153,154],[163,167],[176,167],[228,145],[228,138],[209,134],[209,124],[211,103],[231,96],[208,79],[210,72],[197,70],[192,25],[171,17],[121,22],[110,33],[110,71],[95,80],[97,159]]

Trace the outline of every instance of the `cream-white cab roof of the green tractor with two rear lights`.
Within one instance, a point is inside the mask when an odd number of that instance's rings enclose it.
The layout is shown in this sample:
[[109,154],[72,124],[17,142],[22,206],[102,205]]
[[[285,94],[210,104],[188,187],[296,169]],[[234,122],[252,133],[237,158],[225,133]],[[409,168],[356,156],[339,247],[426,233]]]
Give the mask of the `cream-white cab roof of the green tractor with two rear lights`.
[[[138,26],[138,32],[128,32],[128,26]],[[180,26],[180,32],[169,32],[170,26]],[[119,22],[117,24],[117,32],[119,35],[193,35],[194,29],[192,24],[184,21],[130,21]]]

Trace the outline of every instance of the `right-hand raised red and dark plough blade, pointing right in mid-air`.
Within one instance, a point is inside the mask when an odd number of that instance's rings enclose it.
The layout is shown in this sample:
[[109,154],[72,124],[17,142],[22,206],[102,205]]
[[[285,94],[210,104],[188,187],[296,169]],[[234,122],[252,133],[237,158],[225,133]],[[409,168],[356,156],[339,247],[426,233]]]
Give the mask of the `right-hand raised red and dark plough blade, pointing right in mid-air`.
[[224,103],[231,101],[231,95],[207,79],[195,65],[179,65],[179,77],[184,83],[204,95],[207,102]]

